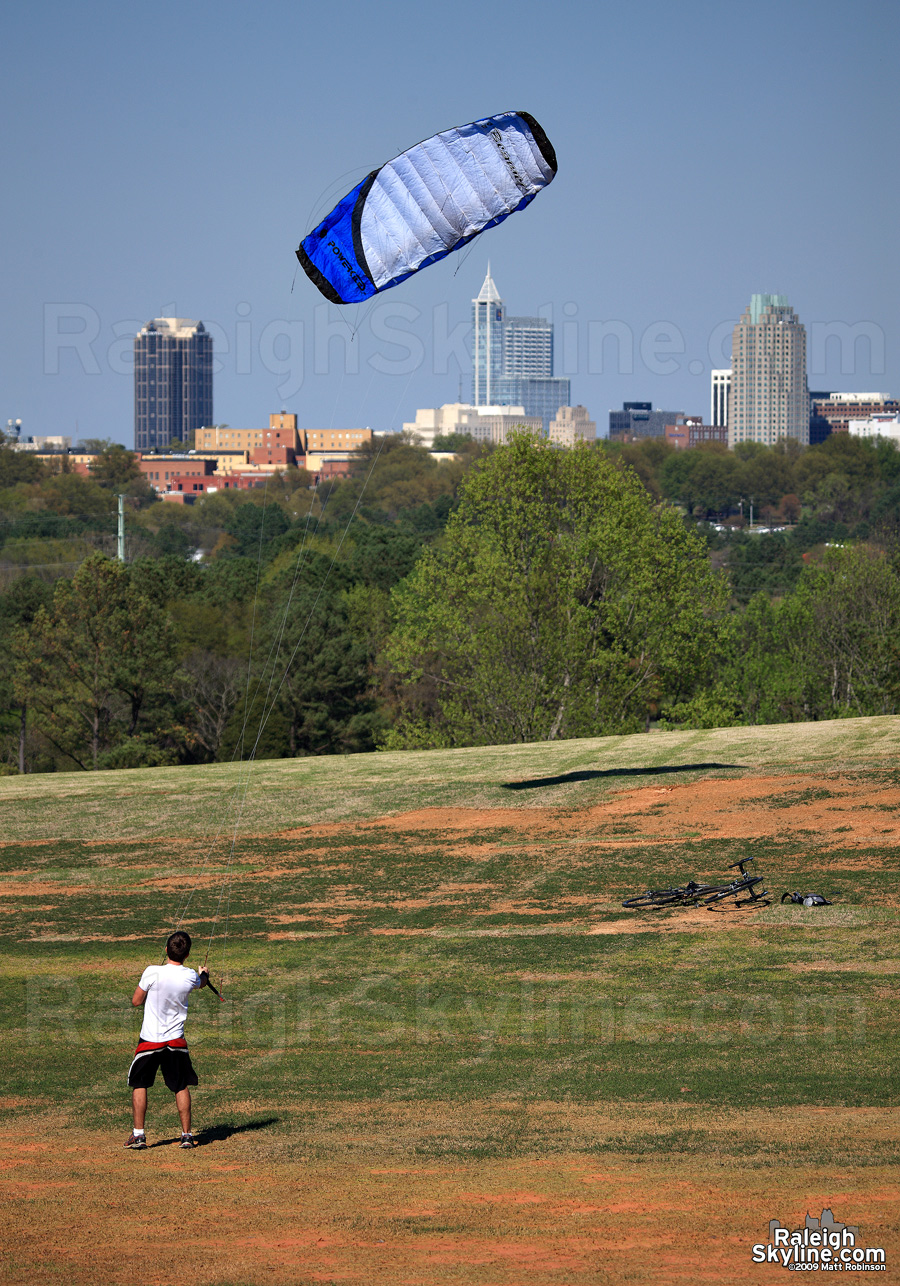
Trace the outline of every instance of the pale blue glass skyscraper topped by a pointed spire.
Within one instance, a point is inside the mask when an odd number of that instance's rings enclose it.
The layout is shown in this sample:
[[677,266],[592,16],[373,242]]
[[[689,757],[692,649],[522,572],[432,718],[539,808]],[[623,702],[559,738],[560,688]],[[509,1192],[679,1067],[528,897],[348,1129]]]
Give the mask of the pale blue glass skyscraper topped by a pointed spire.
[[546,318],[508,318],[490,264],[472,300],[472,404],[522,406],[540,417],[544,432],[571,401],[571,382],[553,374],[553,323]]

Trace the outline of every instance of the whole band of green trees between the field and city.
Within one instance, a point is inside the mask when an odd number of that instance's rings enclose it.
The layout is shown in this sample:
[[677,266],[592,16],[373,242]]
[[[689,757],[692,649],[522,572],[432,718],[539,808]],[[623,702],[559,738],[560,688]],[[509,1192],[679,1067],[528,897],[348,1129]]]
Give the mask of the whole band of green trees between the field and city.
[[453,446],[183,507],[0,445],[0,770],[897,711],[891,444]]

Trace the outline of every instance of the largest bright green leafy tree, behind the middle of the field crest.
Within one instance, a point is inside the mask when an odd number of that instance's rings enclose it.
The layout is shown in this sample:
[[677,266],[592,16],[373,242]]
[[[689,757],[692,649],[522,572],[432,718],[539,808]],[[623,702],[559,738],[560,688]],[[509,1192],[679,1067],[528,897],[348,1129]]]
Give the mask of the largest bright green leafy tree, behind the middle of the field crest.
[[635,730],[706,662],[725,585],[631,471],[530,435],[465,481],[438,549],[393,590],[393,743]]

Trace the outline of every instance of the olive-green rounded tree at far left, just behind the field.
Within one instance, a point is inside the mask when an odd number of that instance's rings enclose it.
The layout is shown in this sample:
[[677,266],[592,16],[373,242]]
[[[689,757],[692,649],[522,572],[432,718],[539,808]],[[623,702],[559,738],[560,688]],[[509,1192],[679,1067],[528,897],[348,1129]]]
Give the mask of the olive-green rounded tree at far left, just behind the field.
[[60,754],[96,768],[103,750],[140,733],[148,703],[171,692],[172,644],[171,621],[127,568],[93,554],[18,631],[15,696]]

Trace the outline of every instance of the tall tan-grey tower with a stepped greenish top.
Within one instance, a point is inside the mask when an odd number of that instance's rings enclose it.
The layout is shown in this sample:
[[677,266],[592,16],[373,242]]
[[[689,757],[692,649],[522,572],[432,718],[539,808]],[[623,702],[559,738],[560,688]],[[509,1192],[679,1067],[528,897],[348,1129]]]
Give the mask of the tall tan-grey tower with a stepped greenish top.
[[784,294],[753,294],[732,337],[728,445],[809,444],[806,328]]

